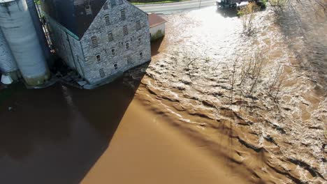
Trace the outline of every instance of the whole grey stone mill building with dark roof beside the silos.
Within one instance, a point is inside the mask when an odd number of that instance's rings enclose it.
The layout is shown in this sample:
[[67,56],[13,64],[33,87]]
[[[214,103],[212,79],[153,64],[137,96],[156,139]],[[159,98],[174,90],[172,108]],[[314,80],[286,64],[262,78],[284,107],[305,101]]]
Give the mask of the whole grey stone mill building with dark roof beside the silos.
[[41,0],[55,52],[92,89],[151,60],[147,13],[126,0]]

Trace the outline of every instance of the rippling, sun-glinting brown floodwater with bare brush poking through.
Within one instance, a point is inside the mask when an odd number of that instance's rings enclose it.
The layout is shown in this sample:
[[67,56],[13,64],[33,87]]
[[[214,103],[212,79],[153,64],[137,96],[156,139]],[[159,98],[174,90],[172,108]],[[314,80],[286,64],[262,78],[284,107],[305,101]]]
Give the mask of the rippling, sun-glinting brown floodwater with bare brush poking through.
[[[164,52],[152,59],[137,91],[180,132],[205,142],[212,160],[238,163],[241,176],[257,178],[253,183],[327,178],[326,17],[314,19],[317,2],[290,3],[277,18],[271,8],[256,13],[251,37],[242,35],[237,17],[221,17],[215,8],[167,15]],[[235,86],[231,100],[233,60],[245,62],[257,50],[266,58],[259,83],[250,95],[248,86]],[[268,93],[278,66],[280,89]]]

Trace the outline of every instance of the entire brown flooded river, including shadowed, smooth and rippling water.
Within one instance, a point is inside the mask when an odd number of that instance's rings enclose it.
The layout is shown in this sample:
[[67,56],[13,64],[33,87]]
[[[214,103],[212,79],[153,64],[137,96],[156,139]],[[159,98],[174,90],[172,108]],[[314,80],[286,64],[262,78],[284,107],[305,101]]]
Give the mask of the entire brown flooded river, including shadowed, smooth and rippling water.
[[267,8],[251,36],[215,6],[164,15],[152,62],[117,82],[2,90],[0,181],[326,183],[324,8]]

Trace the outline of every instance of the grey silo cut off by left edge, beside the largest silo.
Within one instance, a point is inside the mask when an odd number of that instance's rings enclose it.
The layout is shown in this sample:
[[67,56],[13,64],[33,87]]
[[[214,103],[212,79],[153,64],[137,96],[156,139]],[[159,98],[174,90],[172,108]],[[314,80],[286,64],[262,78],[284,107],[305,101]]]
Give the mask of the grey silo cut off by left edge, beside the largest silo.
[[0,29],[0,72],[16,81],[18,79],[17,70],[13,53],[11,53],[6,38]]

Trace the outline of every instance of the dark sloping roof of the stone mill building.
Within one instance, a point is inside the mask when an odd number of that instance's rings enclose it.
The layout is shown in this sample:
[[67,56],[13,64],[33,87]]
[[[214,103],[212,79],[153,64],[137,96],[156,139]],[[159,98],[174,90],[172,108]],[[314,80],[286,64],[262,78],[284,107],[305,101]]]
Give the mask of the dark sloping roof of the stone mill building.
[[[41,8],[53,20],[82,38],[105,2],[106,0],[43,0]],[[92,15],[85,13],[88,5]]]

